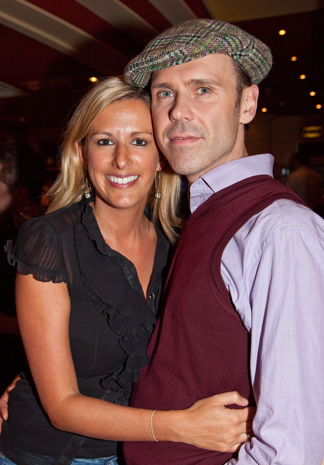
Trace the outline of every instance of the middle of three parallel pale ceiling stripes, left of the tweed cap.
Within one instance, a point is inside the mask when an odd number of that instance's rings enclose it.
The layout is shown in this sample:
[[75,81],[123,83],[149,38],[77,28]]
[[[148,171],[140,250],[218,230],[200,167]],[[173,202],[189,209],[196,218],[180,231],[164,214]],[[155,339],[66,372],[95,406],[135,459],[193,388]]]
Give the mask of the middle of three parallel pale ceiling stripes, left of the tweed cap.
[[155,27],[119,0],[76,1],[136,41],[147,42],[158,33]]

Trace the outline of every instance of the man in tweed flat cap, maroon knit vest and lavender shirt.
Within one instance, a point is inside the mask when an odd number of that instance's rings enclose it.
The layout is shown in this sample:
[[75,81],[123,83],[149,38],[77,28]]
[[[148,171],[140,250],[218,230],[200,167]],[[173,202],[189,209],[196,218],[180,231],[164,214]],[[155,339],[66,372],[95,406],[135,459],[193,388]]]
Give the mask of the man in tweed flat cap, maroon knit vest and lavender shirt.
[[126,68],[139,86],[152,74],[156,140],[187,175],[192,212],[131,404],[156,410],[160,442],[126,443],[127,464],[236,463],[165,441],[159,412],[230,390],[257,404],[239,465],[322,461],[324,222],[272,179],[271,155],[248,157],[244,145],[271,62],[239,28],[193,20],[157,36]]

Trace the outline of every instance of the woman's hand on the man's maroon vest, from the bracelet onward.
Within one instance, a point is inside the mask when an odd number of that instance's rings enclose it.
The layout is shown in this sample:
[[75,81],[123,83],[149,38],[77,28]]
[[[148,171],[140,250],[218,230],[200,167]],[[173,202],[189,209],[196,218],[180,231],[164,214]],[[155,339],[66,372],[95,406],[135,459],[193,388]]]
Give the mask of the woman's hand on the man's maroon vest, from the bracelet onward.
[[157,411],[153,416],[156,439],[183,442],[201,449],[235,452],[253,436],[256,407],[228,409],[225,405],[246,406],[248,401],[236,391],[225,392],[195,402],[186,410]]

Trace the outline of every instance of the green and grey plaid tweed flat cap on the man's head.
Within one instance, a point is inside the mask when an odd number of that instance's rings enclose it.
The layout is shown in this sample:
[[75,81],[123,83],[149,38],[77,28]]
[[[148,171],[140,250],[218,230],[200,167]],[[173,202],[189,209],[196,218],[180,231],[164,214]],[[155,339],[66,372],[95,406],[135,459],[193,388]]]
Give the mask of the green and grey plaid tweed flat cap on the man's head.
[[124,80],[145,87],[152,71],[181,65],[209,53],[227,53],[259,84],[272,66],[270,48],[224,21],[188,20],[168,28],[151,40],[126,66]]

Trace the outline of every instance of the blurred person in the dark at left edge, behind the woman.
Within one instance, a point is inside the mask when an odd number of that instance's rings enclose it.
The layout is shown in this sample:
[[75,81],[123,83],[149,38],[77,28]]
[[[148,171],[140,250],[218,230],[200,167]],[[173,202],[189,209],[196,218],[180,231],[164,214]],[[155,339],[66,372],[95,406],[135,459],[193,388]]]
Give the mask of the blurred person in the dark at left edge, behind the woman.
[[0,142],[0,389],[22,369],[25,352],[19,335],[15,308],[15,269],[8,264],[4,246],[15,240],[19,227],[43,208],[40,194],[44,168],[23,140]]

